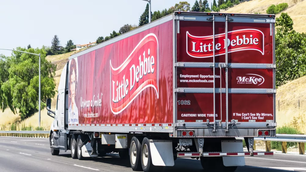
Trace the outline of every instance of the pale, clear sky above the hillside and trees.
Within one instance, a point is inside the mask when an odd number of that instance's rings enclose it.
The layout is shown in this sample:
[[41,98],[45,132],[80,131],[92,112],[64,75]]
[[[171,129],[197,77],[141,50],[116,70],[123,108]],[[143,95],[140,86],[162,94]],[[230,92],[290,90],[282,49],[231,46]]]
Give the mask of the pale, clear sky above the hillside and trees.
[[[180,1],[192,7],[196,0],[151,0],[151,11]],[[138,24],[146,5],[142,0],[0,0],[0,49],[51,46],[54,35],[64,47],[69,39],[75,45],[95,42],[124,24]]]

